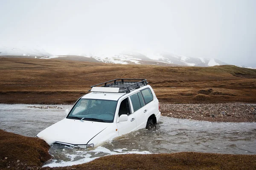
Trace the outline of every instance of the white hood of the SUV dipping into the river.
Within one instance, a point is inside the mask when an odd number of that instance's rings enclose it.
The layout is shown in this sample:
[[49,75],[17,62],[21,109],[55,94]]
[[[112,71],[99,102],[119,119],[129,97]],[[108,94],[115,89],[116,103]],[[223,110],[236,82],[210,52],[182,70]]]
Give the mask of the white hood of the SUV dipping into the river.
[[67,145],[84,145],[106,129],[109,124],[65,118],[38,133],[37,137],[44,139],[49,145],[55,142]]

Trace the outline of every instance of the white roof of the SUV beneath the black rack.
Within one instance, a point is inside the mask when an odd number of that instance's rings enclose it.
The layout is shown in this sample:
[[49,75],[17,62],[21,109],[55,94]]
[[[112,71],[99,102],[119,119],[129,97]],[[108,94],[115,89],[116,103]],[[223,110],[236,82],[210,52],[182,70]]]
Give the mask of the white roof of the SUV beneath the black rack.
[[139,89],[134,89],[130,93],[120,93],[120,92],[90,92],[81,98],[90,98],[90,99],[102,99],[102,100],[112,100],[112,101],[118,101],[119,98],[122,96],[133,94],[134,92],[138,92],[141,89],[147,88],[149,85],[143,86]]

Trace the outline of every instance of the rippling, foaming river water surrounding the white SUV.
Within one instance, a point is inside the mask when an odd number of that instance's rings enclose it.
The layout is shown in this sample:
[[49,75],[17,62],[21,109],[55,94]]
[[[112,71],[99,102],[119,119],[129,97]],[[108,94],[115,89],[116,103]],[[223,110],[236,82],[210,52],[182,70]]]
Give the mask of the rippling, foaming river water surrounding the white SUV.
[[[35,137],[65,118],[71,105],[0,104],[0,129]],[[69,166],[105,155],[204,152],[256,154],[256,123],[220,123],[161,117],[155,130],[138,130],[86,150],[53,144],[45,166]]]

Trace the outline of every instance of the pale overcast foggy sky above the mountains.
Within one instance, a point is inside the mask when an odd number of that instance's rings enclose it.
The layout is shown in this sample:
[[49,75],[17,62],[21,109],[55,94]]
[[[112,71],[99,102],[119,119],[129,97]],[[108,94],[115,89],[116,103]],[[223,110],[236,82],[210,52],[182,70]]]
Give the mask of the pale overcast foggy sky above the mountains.
[[256,67],[256,0],[0,0],[0,46],[172,52]]

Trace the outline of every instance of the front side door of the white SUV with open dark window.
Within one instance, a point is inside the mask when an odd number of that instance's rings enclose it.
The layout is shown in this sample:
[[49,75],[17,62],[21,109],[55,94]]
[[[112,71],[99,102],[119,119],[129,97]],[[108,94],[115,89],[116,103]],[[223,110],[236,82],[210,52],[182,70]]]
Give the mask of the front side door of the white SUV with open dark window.
[[[135,115],[132,114],[131,112],[131,101],[129,98],[123,99],[119,103],[119,108],[118,108],[118,118],[116,121],[116,125],[118,127],[118,133],[119,135],[123,135],[125,133],[129,133],[133,130],[136,130],[136,120],[135,120]],[[127,114],[128,115],[128,121],[119,121],[119,116],[122,114]]]

